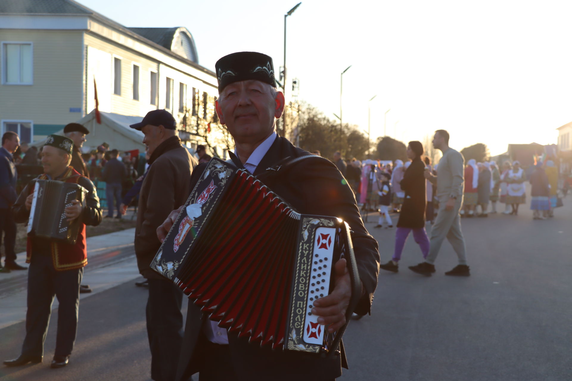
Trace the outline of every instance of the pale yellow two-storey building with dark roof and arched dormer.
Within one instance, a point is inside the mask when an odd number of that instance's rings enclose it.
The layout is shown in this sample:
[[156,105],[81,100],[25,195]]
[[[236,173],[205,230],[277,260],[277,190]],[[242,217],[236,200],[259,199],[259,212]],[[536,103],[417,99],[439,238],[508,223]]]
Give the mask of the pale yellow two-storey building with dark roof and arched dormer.
[[189,146],[202,143],[197,129],[218,122],[216,75],[198,64],[185,27],[128,28],[72,0],[2,0],[0,45],[2,133],[24,142],[89,114],[94,83],[100,111],[166,109]]

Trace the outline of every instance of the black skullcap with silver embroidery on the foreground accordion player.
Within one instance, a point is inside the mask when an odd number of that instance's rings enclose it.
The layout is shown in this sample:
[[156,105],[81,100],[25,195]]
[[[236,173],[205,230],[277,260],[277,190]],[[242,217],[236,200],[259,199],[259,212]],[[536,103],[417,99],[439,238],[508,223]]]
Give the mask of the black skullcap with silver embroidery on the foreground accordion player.
[[219,93],[231,83],[256,79],[276,86],[272,57],[255,51],[241,51],[225,55],[215,64]]

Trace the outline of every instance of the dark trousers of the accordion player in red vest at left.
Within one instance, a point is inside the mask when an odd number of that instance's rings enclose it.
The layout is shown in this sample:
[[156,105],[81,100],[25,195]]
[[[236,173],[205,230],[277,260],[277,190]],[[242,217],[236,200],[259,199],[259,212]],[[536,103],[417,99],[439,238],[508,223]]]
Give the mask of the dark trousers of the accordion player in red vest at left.
[[57,296],[59,302],[55,356],[72,354],[76,342],[80,282],[83,276],[83,268],[55,271],[50,255],[32,253],[28,267],[28,310],[23,355],[43,356],[43,343],[50,323],[54,296]]

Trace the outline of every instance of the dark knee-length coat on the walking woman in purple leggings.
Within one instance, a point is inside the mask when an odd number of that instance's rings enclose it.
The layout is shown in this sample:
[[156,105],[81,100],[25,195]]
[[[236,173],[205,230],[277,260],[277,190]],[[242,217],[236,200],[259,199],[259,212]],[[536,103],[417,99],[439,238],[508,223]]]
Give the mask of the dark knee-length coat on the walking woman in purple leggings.
[[425,191],[425,163],[420,158],[411,162],[409,168],[400,182],[405,192],[403,206],[399,214],[397,227],[418,229],[425,227],[425,208],[427,206],[427,192]]

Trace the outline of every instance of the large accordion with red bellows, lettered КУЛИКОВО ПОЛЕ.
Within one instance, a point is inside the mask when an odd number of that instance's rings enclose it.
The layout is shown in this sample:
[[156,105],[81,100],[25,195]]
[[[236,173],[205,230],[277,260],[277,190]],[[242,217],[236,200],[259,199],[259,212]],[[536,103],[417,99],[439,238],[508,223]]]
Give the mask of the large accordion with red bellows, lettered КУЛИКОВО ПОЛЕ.
[[151,263],[210,320],[273,349],[333,353],[312,314],[345,258],[352,284],[349,322],[360,298],[349,227],[331,216],[297,213],[244,169],[210,160]]

